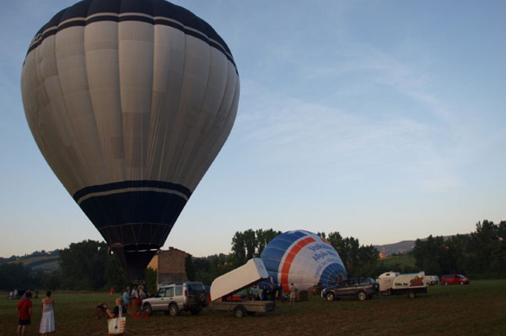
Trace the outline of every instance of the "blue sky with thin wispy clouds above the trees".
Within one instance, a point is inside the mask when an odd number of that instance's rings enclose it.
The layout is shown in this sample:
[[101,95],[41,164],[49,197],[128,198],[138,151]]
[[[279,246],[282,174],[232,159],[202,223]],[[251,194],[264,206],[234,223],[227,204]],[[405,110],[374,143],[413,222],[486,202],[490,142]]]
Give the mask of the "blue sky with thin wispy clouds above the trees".
[[[70,0],[0,13],[0,257],[102,240],[24,115],[28,45]],[[361,244],[506,220],[506,2],[174,1],[237,64],[232,132],[164,245],[228,253],[236,231]]]

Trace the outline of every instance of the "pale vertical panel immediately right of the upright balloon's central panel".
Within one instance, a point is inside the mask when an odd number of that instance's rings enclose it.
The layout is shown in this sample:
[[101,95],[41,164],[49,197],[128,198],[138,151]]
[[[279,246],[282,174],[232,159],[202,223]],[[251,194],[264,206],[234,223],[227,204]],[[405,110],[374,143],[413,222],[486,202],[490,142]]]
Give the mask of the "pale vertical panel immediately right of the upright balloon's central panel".
[[175,182],[169,176],[169,168],[175,150],[171,142],[174,142],[177,127],[185,59],[185,35],[179,29],[155,25],[153,47],[148,176],[150,180]]

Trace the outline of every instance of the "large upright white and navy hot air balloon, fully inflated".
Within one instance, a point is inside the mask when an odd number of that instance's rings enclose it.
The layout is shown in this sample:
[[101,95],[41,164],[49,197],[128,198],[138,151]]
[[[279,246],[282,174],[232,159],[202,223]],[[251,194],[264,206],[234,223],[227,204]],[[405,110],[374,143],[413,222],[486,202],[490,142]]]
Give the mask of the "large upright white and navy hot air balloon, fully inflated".
[[51,169],[139,278],[232,129],[229,48],[163,0],[85,0],[35,34],[21,90]]

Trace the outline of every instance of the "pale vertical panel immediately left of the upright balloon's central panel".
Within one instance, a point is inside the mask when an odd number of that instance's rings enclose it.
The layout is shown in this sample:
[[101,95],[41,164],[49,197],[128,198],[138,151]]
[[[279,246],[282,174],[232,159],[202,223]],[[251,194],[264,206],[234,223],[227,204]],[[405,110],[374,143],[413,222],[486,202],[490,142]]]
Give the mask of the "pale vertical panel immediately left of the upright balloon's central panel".
[[85,61],[90,99],[105,171],[98,184],[125,179],[119,93],[118,23],[99,21],[85,28]]

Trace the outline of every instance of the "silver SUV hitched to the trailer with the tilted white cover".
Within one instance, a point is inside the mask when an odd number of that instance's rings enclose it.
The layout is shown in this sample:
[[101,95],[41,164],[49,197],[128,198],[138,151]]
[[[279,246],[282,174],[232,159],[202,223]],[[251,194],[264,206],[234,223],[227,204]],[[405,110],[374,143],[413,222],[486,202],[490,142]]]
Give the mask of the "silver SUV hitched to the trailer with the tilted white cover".
[[171,316],[178,316],[182,311],[197,315],[206,305],[207,293],[204,285],[195,281],[162,285],[154,297],[142,301],[145,312],[153,314],[156,311],[164,311]]

